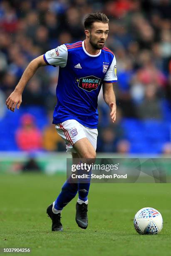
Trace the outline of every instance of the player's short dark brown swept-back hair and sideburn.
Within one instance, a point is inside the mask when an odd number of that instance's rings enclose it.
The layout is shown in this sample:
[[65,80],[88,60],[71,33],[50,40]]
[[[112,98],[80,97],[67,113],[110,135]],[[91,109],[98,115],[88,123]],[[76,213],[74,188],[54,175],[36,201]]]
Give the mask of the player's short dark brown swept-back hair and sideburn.
[[104,13],[90,13],[84,19],[84,28],[85,29],[92,28],[92,24],[94,22],[109,23],[109,19],[107,18],[107,15]]

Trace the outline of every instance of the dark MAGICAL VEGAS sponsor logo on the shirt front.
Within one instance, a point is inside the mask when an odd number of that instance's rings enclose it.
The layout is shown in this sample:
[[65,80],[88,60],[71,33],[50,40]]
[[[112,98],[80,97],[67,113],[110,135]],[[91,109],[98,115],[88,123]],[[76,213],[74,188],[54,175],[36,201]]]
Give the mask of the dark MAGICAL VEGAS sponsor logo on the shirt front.
[[86,90],[87,92],[91,92],[96,90],[100,85],[102,79],[94,76],[89,77],[81,77],[78,81],[78,87]]

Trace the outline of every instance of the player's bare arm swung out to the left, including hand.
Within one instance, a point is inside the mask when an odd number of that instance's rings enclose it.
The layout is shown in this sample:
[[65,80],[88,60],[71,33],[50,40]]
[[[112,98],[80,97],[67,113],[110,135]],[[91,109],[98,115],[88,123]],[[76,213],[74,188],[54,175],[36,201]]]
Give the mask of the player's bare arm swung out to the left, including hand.
[[22,102],[22,92],[27,84],[27,82],[32,78],[37,69],[42,66],[46,66],[45,60],[43,59],[43,55],[33,59],[30,64],[28,64],[25,72],[22,74],[22,77],[15,87],[15,90],[10,94],[10,96],[6,100],[7,108],[14,112],[15,107],[17,109],[20,108]]

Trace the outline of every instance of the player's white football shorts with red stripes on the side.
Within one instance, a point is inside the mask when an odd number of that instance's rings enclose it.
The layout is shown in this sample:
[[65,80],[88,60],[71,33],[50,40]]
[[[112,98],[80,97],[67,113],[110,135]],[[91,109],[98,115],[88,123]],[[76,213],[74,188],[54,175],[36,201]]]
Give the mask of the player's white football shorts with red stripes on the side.
[[55,125],[57,133],[64,139],[67,152],[77,153],[73,148],[74,143],[82,138],[87,138],[94,149],[97,147],[97,129],[88,128],[78,121],[71,119]]

